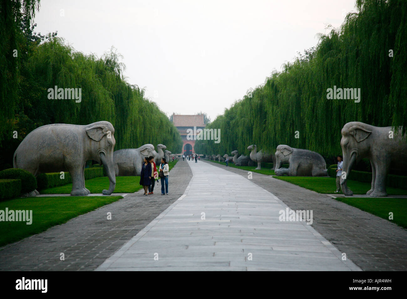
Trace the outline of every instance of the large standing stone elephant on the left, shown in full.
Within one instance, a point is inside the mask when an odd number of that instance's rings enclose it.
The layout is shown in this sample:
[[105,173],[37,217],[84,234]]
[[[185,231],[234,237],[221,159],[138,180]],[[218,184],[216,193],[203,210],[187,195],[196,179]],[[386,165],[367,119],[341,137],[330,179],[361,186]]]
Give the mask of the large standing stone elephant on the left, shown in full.
[[[84,169],[88,160],[105,166],[110,195],[116,186],[113,150],[116,144],[114,127],[101,121],[88,125],[47,124],[29,133],[15,150],[14,168],[22,168],[35,177],[44,172],[68,171],[72,178],[72,196],[85,196]],[[37,192],[35,192],[37,193]]]

